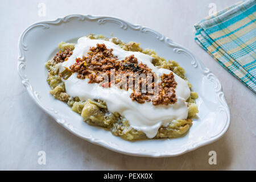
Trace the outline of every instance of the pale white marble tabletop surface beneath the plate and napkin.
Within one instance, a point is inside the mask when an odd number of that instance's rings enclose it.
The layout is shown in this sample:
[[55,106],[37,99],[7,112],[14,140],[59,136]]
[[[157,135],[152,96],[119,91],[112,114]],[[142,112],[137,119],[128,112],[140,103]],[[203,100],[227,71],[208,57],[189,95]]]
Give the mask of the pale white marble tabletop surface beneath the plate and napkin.
[[[256,96],[224,70],[193,40],[193,24],[236,0],[158,1],[1,1],[0,6],[0,169],[187,170],[256,169]],[[46,16],[38,15],[38,4]],[[77,138],[46,115],[28,96],[16,71],[17,43],[32,23],[67,14],[110,15],[142,24],[183,44],[220,79],[231,112],[231,125],[220,140],[174,158],[140,158],[118,154]],[[170,22],[166,24],[165,22]],[[4,65],[4,66],[3,66]],[[38,151],[46,151],[46,165]],[[208,152],[217,152],[209,165]]]

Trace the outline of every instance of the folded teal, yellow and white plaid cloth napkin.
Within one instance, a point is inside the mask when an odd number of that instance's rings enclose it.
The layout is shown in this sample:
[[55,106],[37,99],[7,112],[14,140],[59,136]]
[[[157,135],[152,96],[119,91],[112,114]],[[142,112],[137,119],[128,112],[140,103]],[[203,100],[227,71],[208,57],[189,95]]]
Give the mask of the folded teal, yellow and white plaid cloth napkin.
[[256,0],[238,2],[195,24],[196,42],[256,93]]

